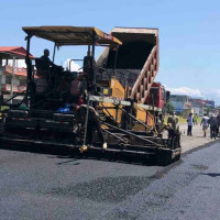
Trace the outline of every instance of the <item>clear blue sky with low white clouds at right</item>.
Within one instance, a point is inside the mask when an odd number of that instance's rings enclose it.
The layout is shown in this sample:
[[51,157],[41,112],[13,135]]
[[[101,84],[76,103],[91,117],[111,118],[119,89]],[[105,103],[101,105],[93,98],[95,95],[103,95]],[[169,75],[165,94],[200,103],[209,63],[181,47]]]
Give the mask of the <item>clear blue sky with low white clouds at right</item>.
[[[0,46],[25,48],[22,26],[96,26],[106,33],[114,26],[157,28],[155,80],[172,94],[211,99],[220,106],[219,0],[0,0]],[[34,56],[41,56],[44,48],[53,51],[53,44],[32,40]],[[62,47],[55,63],[65,65],[85,53],[80,46]]]

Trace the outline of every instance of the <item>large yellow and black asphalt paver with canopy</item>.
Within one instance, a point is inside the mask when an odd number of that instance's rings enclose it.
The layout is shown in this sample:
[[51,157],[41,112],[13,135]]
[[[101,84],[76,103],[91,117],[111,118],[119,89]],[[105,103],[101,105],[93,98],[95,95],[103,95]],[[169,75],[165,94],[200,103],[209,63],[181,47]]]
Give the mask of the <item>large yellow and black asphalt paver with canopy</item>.
[[[103,157],[111,155],[116,158],[118,156],[123,158],[127,156],[135,157],[142,161],[154,158],[160,164],[169,164],[180,157],[179,134],[174,134],[172,138],[170,135],[169,138],[163,138],[158,131],[155,131],[155,127],[148,125],[145,120],[142,120],[143,117],[140,118],[140,112],[138,112],[146,110],[144,101],[139,102],[138,99],[145,100],[146,92],[142,90],[143,88],[150,90],[150,85],[153,81],[150,81],[150,79],[142,80],[142,77],[139,76],[134,80],[134,89],[132,91],[130,89],[129,92],[129,87],[122,85],[120,79],[117,78],[118,57],[121,58],[122,64],[125,61],[123,56],[128,56],[128,54],[119,51],[123,44],[123,37],[120,41],[120,37],[107,34],[96,28],[79,26],[30,26],[23,28],[23,31],[26,33],[26,91],[20,105],[3,112],[4,117],[0,132],[1,145],[7,147],[13,145],[25,145],[34,148],[50,147],[55,150],[73,150],[73,152],[76,150],[81,154],[92,153],[92,155],[97,154]],[[121,36],[122,33],[120,32],[118,35]],[[74,45],[88,47],[86,56],[81,58],[84,64],[81,67],[81,80],[87,88],[85,102],[88,106],[92,106],[99,112],[102,131],[108,143],[107,148],[103,150],[101,147],[96,132],[94,133],[94,143],[86,144],[88,119],[86,119],[82,129],[77,130],[78,124],[74,112],[72,110],[59,111],[68,102],[70,82],[76,77],[75,73],[62,68],[51,69],[51,81],[43,85],[44,89],[41,89],[42,84],[38,85],[37,81],[41,80],[38,80],[40,78],[36,74],[40,69],[37,65],[36,67],[33,66],[30,58],[30,45],[33,36],[54,42],[54,48]],[[135,32],[127,41],[132,41],[134,36]],[[144,35],[142,34],[143,37]],[[106,47],[101,55],[102,58],[99,57],[98,62],[95,61],[95,50],[97,46]],[[151,50],[155,51],[155,47],[152,46]],[[106,51],[108,51],[110,57],[105,55],[107,54]],[[152,53],[147,52],[147,54],[151,55]],[[154,59],[151,62],[155,62],[156,56],[157,54],[154,54]],[[102,61],[108,58],[111,68],[103,65]],[[128,59],[127,62],[130,61]],[[35,64],[37,64],[37,61]],[[109,73],[109,69],[111,69],[111,73]],[[142,75],[146,75],[146,73],[142,70]],[[147,84],[147,81],[151,84]],[[142,82],[144,82],[144,87],[139,85]],[[140,94],[144,96],[140,97]],[[151,111],[155,108],[153,107]],[[85,116],[87,118],[88,112]],[[146,117],[146,112],[144,117]],[[133,128],[136,124],[141,125],[142,130],[134,130]],[[76,130],[77,132],[75,132]]]

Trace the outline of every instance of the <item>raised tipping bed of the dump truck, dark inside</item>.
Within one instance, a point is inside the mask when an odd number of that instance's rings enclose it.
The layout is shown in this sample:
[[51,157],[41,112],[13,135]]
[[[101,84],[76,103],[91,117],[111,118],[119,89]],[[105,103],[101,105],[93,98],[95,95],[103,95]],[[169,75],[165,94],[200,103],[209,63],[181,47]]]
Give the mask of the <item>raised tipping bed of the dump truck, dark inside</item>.
[[144,103],[158,72],[158,30],[114,28],[111,34],[122,45],[116,51],[106,48],[97,64],[106,69],[105,77],[114,76],[124,87],[131,88],[131,99]]

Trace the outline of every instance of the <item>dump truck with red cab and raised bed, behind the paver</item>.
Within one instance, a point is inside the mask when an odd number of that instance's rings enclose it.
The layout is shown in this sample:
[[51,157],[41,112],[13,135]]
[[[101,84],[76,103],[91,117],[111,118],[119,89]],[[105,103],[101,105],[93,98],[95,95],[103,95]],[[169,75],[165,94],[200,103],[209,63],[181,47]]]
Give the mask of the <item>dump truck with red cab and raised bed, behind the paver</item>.
[[[108,47],[99,56],[97,65],[105,68],[101,78],[107,81],[117,79],[118,90],[112,97],[132,101],[135,118],[155,129],[158,119],[162,123],[164,121],[169,98],[164,86],[154,81],[160,63],[158,30],[114,28],[111,34],[123,44],[117,52]],[[117,117],[121,114],[120,111],[114,113]]]

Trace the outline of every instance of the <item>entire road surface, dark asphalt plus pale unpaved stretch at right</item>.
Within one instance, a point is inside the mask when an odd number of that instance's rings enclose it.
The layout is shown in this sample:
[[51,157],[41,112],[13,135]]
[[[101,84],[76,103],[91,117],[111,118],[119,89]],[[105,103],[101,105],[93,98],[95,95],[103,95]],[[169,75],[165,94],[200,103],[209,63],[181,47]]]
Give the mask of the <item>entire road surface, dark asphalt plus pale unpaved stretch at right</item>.
[[0,219],[220,219],[219,140],[185,128],[166,167],[0,150]]

